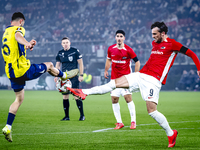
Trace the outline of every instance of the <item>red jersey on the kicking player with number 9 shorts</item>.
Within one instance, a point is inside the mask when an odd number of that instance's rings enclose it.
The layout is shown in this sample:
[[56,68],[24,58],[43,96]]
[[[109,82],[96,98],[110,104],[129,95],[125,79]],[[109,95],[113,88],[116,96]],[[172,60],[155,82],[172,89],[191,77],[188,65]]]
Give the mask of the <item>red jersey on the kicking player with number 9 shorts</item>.
[[165,84],[168,72],[183,45],[174,39],[167,38],[161,43],[153,41],[152,46],[150,58],[140,72],[151,75]]

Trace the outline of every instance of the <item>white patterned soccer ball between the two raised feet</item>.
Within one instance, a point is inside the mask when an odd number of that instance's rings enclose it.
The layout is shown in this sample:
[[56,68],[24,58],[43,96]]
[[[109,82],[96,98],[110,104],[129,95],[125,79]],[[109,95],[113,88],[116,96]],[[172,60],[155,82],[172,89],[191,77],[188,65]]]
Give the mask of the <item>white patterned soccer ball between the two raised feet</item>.
[[67,87],[72,87],[72,83],[69,79],[62,81],[60,78],[56,82],[56,89],[61,93],[68,93]]

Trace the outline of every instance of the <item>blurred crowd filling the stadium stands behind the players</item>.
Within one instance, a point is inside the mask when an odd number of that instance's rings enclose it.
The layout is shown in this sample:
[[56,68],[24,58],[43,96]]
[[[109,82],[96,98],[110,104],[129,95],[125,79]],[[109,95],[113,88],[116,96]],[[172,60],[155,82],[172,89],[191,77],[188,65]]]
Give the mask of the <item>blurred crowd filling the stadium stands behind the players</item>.
[[[33,61],[33,57],[40,59],[44,54],[54,59],[66,36],[80,49],[90,72],[94,69],[90,64],[96,61],[104,67],[107,48],[115,43],[116,30],[123,29],[125,43],[143,65],[150,55],[150,26],[155,21],[164,21],[169,37],[200,57],[200,0],[0,0],[0,7],[1,35],[10,25],[13,12],[25,15],[26,38],[38,42],[35,51],[28,54]],[[176,63],[193,65],[184,55],[178,56]]]

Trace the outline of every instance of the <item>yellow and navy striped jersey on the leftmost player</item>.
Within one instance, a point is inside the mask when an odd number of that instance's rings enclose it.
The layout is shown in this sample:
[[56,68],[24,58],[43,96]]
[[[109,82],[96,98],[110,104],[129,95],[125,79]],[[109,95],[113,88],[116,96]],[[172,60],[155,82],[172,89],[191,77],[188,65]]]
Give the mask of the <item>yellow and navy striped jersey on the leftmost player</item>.
[[8,78],[19,78],[30,68],[26,59],[25,46],[18,43],[15,33],[25,36],[25,29],[20,26],[8,26],[3,34],[1,52],[5,61],[5,72]]

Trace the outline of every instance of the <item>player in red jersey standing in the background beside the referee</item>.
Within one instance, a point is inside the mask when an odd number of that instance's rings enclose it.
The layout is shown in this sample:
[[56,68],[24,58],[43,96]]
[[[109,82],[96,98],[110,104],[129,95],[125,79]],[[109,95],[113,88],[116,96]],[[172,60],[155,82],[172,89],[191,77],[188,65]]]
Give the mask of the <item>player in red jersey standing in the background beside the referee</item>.
[[[107,60],[105,65],[104,77],[108,78],[108,70],[111,66],[111,80],[119,78],[123,75],[130,74],[131,69],[131,59],[135,62],[135,72],[138,72],[140,69],[140,61],[137,58],[137,55],[128,45],[124,44],[125,32],[123,30],[116,31],[116,44],[111,45],[108,48]],[[111,65],[112,64],[112,65]],[[132,93],[128,89],[116,88],[111,91],[112,99],[112,108],[117,120],[116,127],[114,129],[121,129],[124,127],[122,123],[121,114],[120,114],[120,105],[119,97],[123,96],[127,102],[130,116],[131,116],[131,126],[130,129],[136,128],[136,113],[135,113],[135,104],[132,101]]]

